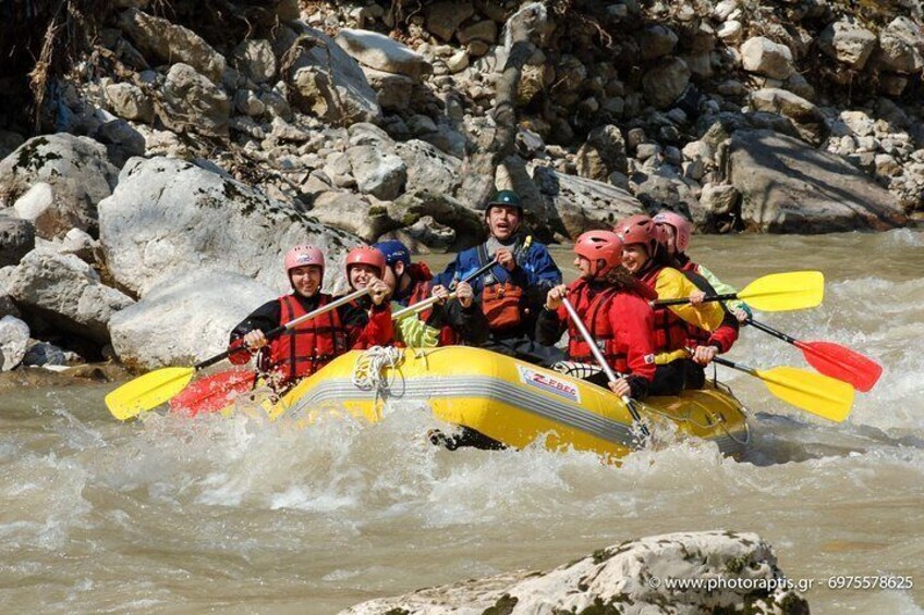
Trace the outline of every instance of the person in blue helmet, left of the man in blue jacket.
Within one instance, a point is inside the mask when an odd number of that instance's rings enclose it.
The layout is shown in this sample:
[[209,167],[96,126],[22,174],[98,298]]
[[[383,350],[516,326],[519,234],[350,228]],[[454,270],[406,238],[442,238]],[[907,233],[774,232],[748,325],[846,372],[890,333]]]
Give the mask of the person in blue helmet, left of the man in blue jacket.
[[[392,311],[430,296],[433,274],[425,262],[411,262],[408,246],[398,239],[388,239],[373,247],[385,256],[384,281],[393,288]],[[484,343],[488,336],[487,319],[475,300],[471,284],[462,282],[457,285],[455,292],[454,300],[435,304],[417,316],[398,321],[397,344],[422,348]]]

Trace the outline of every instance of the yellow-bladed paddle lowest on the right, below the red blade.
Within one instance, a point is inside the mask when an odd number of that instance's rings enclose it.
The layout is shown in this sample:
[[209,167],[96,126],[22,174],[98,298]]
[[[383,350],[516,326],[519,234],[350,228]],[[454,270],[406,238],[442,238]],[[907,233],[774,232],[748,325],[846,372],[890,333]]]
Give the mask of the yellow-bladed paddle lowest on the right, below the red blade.
[[783,402],[835,422],[846,419],[853,406],[853,386],[820,373],[786,366],[757,370],[721,357],[713,360],[759,378]]

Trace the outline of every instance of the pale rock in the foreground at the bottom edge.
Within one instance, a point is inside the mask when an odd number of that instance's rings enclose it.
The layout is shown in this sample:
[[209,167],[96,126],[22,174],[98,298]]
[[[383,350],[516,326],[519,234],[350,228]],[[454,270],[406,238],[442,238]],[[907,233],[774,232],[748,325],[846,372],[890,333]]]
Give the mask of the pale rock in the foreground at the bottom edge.
[[807,615],[808,603],[786,580],[757,534],[682,532],[630,540],[548,573],[521,570],[372,600],[341,615]]

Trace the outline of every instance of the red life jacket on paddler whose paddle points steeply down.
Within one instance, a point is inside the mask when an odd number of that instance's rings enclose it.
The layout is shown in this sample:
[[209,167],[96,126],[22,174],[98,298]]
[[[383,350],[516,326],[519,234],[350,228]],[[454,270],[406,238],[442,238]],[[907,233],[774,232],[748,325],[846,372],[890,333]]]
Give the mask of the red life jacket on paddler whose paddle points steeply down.
[[[594,292],[587,281],[581,279],[569,288],[569,294],[575,297],[573,299],[574,310],[584,321],[591,335],[599,344],[607,364],[620,373],[629,373],[629,357],[624,352],[619,350],[612,323],[609,320],[610,302],[618,294],[618,291],[608,287]],[[584,341],[584,336],[581,335],[574,321],[570,318],[568,319],[568,356],[571,360],[596,362],[591,346]]]

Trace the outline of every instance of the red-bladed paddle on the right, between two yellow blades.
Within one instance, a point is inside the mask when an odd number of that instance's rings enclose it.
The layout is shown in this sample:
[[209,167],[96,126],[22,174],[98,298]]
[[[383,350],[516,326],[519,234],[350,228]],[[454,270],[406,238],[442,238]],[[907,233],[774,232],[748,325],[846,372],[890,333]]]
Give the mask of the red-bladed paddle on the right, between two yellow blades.
[[802,342],[763,322],[757,322],[753,318],[749,318],[747,323],[764,333],[769,333],[774,337],[792,344],[802,350],[802,355],[808,365],[820,373],[848,382],[858,391],[864,393],[870,391],[883,374],[883,366],[870,357],[840,344],[835,344],[834,342]]

